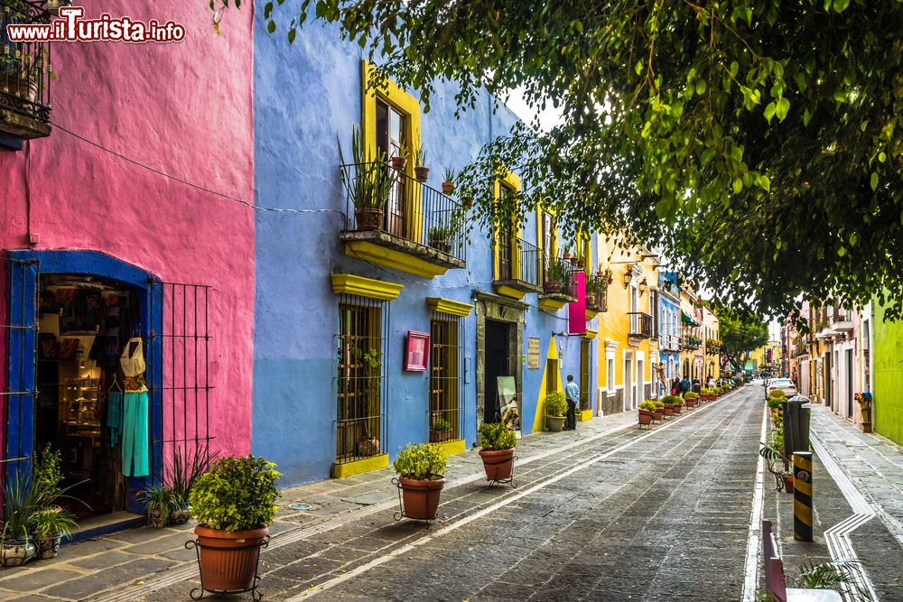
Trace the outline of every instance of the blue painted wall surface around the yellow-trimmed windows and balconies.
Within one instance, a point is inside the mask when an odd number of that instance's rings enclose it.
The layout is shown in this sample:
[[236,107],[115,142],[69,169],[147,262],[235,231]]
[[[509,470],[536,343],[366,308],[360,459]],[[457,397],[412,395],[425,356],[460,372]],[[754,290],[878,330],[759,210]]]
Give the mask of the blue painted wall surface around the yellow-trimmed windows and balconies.
[[[485,232],[474,232],[467,269],[426,279],[343,255],[345,194],[340,186],[336,136],[346,156],[353,125],[360,122],[362,56],[338,32],[308,23],[289,46],[265,32],[257,15],[254,44],[256,203],[302,213],[256,212],[256,299],[254,329],[254,411],[252,451],[275,461],[283,485],[330,477],[335,458],[336,339],[338,306],[330,273],[353,273],[404,284],[391,302],[388,363],[388,428],[382,442],[390,458],[408,442],[428,440],[429,376],[401,369],[408,330],[429,331],[426,297],[471,302],[475,289],[491,291],[492,255]],[[412,91],[414,96],[415,91]],[[422,142],[433,167],[430,185],[440,188],[442,167],[460,169],[483,144],[505,134],[517,116],[502,107],[493,113],[488,96],[454,117],[454,88],[440,86],[431,111],[422,113]],[[488,182],[489,184],[489,182]],[[522,236],[536,238],[535,214]],[[567,330],[566,310],[538,310],[528,294],[526,339],[540,337],[541,366],[552,332]],[[476,441],[476,318],[465,320],[464,355],[470,374],[464,384],[465,442]],[[593,347],[596,343],[593,342]],[[579,373],[580,344],[563,342],[563,374]],[[592,391],[598,353],[593,351]],[[543,370],[523,370],[523,422],[533,424]],[[595,403],[595,394],[591,394]]]

